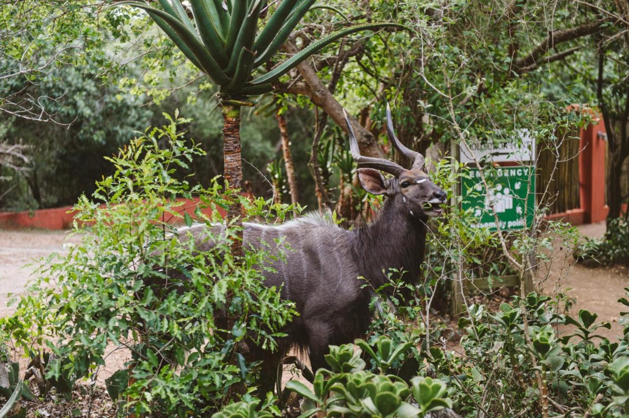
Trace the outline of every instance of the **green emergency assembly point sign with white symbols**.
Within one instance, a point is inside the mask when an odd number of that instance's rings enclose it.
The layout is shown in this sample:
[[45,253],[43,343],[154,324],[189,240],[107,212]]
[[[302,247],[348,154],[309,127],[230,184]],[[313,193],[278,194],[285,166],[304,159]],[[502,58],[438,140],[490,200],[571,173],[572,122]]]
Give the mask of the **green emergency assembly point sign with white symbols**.
[[533,224],[535,211],[535,167],[499,167],[493,174],[486,174],[489,193],[485,190],[477,168],[469,169],[470,178],[461,185],[462,208],[472,210],[478,222],[477,228],[497,230],[496,218],[491,210],[492,203],[501,230],[521,229]]

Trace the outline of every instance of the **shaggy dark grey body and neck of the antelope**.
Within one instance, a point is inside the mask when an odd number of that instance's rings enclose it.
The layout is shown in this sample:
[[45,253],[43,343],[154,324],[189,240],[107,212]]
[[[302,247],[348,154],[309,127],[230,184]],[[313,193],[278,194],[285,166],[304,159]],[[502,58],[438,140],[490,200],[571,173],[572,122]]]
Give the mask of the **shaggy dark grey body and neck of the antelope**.
[[[399,193],[385,201],[376,221],[357,230],[345,230],[317,214],[284,223],[245,223],[245,246],[279,253],[265,272],[265,284],[282,286],[281,296],[296,304],[299,316],[279,341],[279,360],[291,346],[308,349],[313,371],[325,367],[328,345],[352,342],[369,327],[373,290],[386,282],[390,268],[418,277],[423,261],[427,217],[414,215]],[[192,227],[200,250],[208,250],[205,226]],[[213,233],[220,232],[216,227]],[[283,240],[281,244],[277,242]],[[364,278],[364,279],[363,279]],[[364,286],[369,284],[369,286]],[[270,353],[259,353],[265,360]]]

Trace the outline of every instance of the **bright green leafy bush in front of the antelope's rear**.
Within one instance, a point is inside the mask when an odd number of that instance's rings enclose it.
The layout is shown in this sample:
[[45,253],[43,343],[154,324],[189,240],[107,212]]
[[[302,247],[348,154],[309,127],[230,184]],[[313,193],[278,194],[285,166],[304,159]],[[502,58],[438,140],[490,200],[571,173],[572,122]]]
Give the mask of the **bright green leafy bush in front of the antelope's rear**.
[[[29,353],[45,346],[46,378],[72,385],[95,378],[112,350],[126,348],[131,361],[106,382],[109,394],[128,399],[125,408],[150,414],[214,412],[231,399],[235,385],[254,388],[257,366],[240,351],[268,349],[295,313],[279,290],[262,284],[266,252],[235,263],[229,245],[235,228],[212,232],[221,210],[238,200],[253,216],[282,219],[287,205],[267,207],[221,194],[221,187],[191,186],[173,174],[203,154],[188,147],[175,113],[167,124],[108,158],[116,171],[97,183],[94,200],[83,196],[75,209],[81,244],[43,260],[38,280],[19,300],[3,329]],[[195,198],[184,213],[184,200]],[[208,225],[208,250],[173,221]],[[214,230],[216,231],[216,230]],[[269,402],[267,402],[269,403]]]

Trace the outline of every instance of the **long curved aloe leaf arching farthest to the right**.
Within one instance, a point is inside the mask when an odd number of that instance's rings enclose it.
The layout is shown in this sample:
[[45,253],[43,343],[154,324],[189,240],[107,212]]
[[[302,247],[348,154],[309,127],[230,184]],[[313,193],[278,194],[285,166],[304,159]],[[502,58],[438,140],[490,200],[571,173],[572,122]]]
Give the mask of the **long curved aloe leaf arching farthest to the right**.
[[356,33],[359,31],[386,28],[386,27],[410,29],[408,28],[408,26],[404,26],[403,24],[399,24],[399,23],[364,23],[364,24],[357,24],[354,26],[350,26],[349,28],[340,29],[336,32],[330,33],[330,35],[325,36],[325,38],[321,38],[320,40],[314,43],[311,43],[306,48],[299,51],[298,53],[293,55],[291,58],[289,58],[285,62],[278,65],[276,68],[273,68],[273,70],[269,71],[268,73],[258,78],[255,78],[255,80],[251,82],[251,85],[260,85],[264,83],[276,82],[280,77],[282,77],[282,75],[292,70],[292,68],[296,67],[299,63],[301,63],[303,60],[308,58],[308,56],[311,56],[314,53],[320,51],[322,48],[324,48],[327,45],[330,45],[330,43],[337,40],[338,38],[342,38],[343,36],[351,35],[352,33]]

